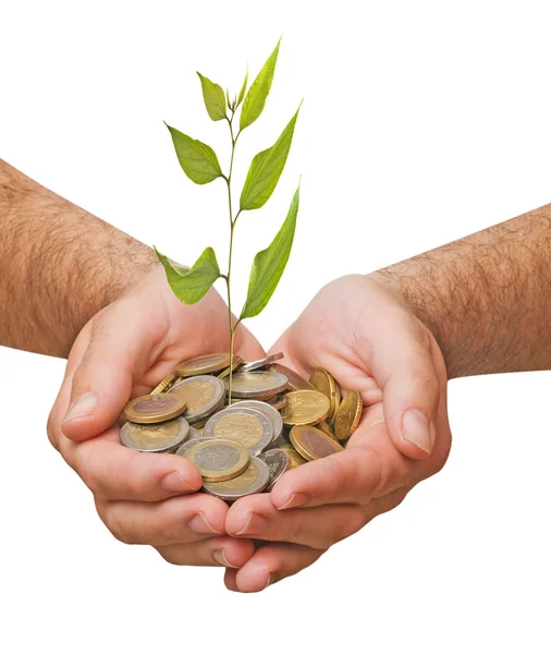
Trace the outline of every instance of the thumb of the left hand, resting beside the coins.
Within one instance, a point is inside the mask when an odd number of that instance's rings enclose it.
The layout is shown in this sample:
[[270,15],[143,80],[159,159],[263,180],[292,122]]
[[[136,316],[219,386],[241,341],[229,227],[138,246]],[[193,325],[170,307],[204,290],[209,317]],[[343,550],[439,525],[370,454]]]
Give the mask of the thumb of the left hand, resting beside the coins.
[[66,380],[71,397],[62,431],[68,438],[84,440],[117,421],[131,396],[133,377],[139,377],[162,350],[163,314],[159,307],[121,301],[94,323],[88,348]]

